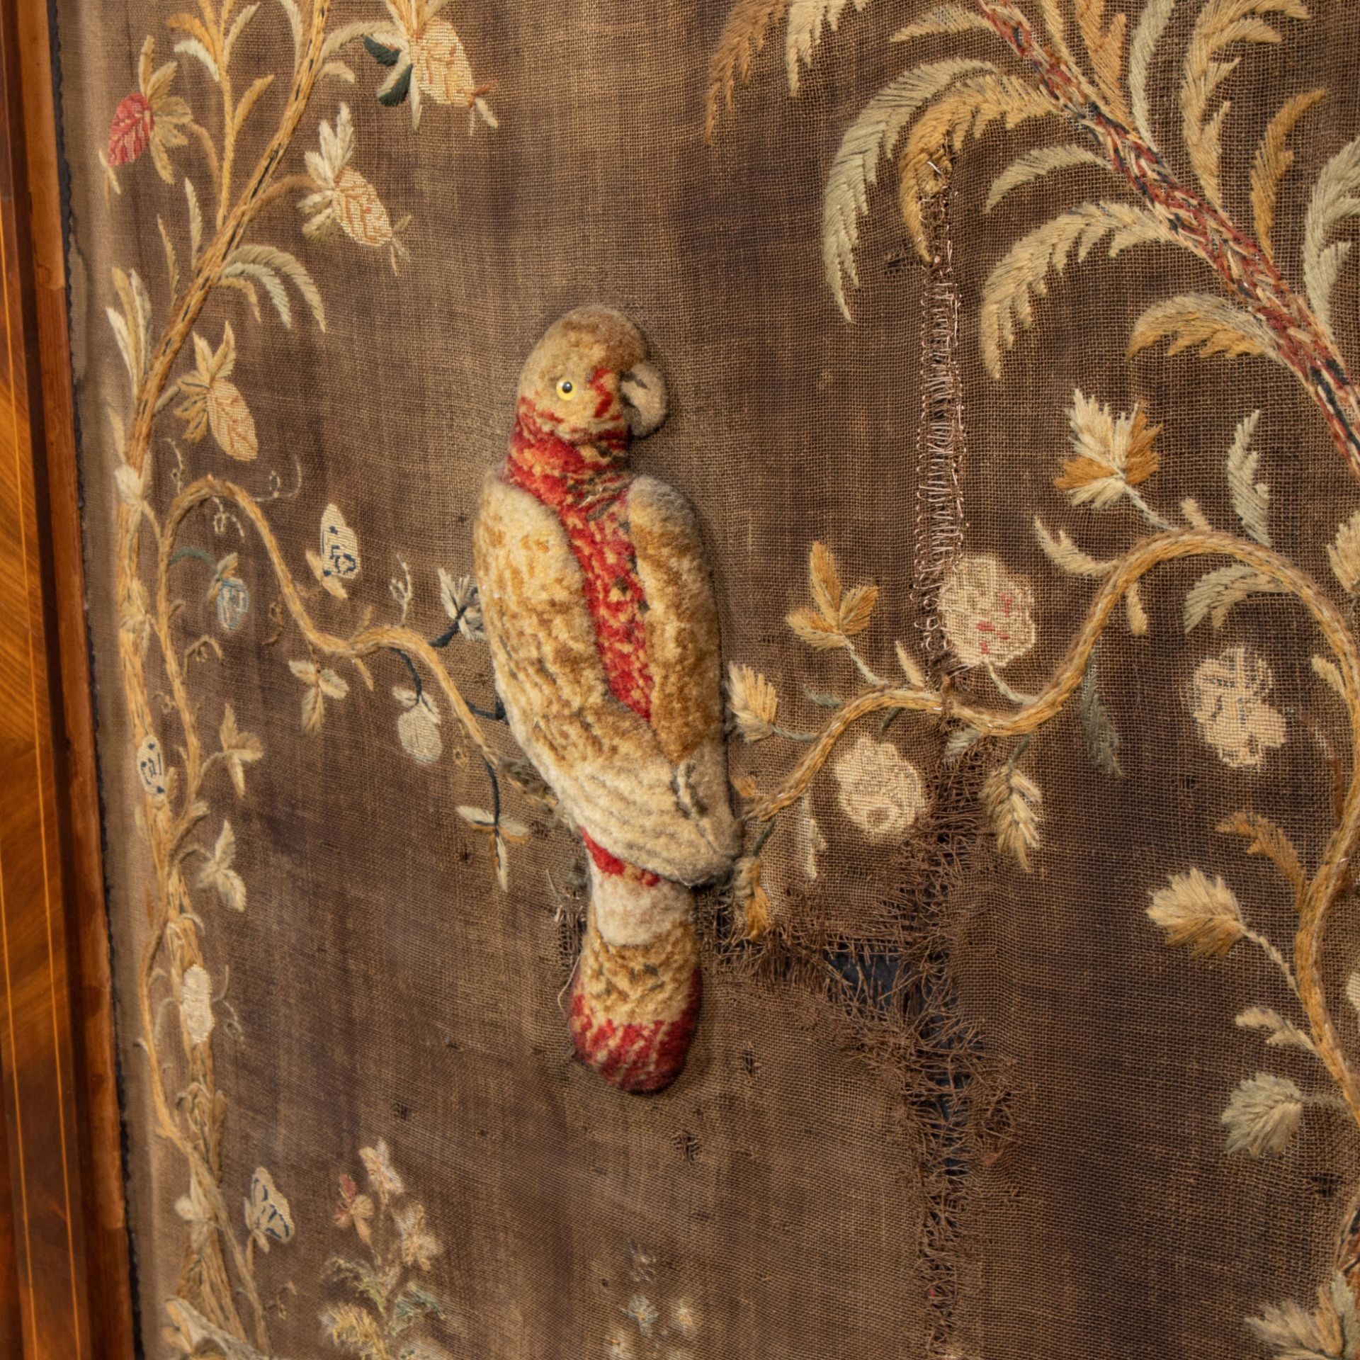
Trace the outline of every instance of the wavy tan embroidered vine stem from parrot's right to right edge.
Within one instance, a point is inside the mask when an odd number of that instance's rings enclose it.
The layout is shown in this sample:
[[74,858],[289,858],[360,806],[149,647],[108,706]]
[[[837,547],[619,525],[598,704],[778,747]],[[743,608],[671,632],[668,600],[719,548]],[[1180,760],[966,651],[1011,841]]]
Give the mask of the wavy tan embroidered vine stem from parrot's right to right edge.
[[868,690],[847,702],[816,736],[811,749],[774,793],[758,800],[753,821],[767,826],[808,790],[839,740],[861,719],[891,709],[923,713],[951,721],[986,737],[1023,737],[1036,732],[1062,713],[1078,692],[1096,643],[1110,623],[1115,607],[1153,567],[1187,558],[1225,556],[1251,567],[1292,594],[1308,611],[1337,658],[1346,714],[1350,722],[1350,782],[1341,805],[1337,827],[1327,840],[1318,872],[1299,895],[1299,925],[1295,934],[1293,972],[1299,1000],[1308,1017],[1312,1040],[1336,1081],[1352,1119],[1360,1125],[1360,1084],[1337,1039],[1319,972],[1319,955],[1327,913],[1345,888],[1350,873],[1350,851],[1360,836],[1360,653],[1345,619],[1314,582],[1269,548],[1227,533],[1180,530],[1145,539],[1114,563],[1099,594],[1091,604],[1076,639],[1047,685],[1013,713],[994,713],[960,702],[953,688],[936,690],[883,687]]

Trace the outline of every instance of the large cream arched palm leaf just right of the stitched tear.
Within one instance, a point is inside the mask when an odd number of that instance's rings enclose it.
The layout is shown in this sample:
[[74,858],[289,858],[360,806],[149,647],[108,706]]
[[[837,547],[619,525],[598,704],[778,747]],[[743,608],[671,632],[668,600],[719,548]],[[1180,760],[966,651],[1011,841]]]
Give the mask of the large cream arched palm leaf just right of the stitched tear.
[[1016,328],[1034,322],[1034,298],[1049,291],[1049,275],[1062,273],[1074,254],[1083,262],[1108,237],[1108,254],[1134,245],[1176,245],[1160,218],[1129,203],[1083,203],[1021,237],[991,271],[982,290],[981,343],[987,371],[1001,377],[1001,354],[1012,348]]

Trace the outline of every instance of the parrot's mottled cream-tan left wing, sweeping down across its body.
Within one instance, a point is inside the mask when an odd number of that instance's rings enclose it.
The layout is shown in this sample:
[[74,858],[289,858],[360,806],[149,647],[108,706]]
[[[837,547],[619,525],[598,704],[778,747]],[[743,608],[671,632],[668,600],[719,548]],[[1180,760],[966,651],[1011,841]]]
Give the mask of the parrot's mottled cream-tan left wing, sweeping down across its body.
[[733,853],[725,777],[721,804],[704,802],[711,753],[702,770],[692,756],[672,759],[609,692],[585,578],[558,517],[492,473],[473,549],[510,730],[571,819],[611,854],[665,879],[724,873]]

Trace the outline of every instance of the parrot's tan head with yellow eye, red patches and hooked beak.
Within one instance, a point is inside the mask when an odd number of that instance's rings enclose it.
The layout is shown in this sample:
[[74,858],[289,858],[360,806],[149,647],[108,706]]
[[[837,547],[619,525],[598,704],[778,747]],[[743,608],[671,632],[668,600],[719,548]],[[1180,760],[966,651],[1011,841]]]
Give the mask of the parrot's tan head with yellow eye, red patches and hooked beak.
[[555,321],[525,360],[517,397],[522,428],[615,456],[666,418],[665,382],[642,332],[608,307]]

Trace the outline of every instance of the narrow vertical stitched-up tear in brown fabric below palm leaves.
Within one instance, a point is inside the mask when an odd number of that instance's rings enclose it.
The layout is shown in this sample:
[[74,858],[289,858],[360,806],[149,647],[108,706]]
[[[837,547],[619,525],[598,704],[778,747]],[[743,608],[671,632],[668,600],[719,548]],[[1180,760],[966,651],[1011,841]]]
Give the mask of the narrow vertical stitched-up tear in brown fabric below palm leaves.
[[922,203],[930,246],[921,294],[921,427],[917,432],[917,537],[911,594],[922,649],[933,666],[948,666],[949,643],[940,626],[940,586],[963,547],[960,466],[967,450],[963,378],[959,371],[959,288],[949,231],[949,167]]

